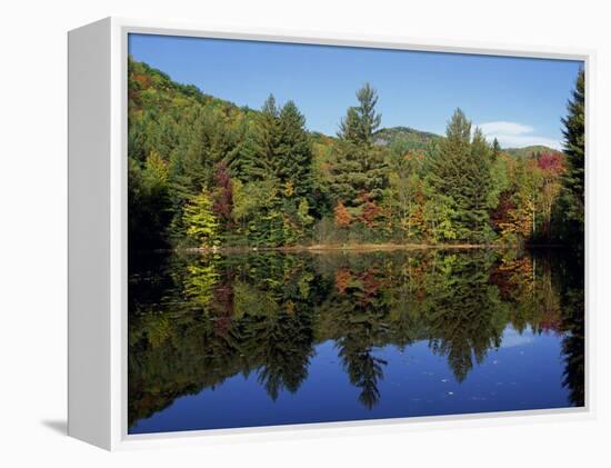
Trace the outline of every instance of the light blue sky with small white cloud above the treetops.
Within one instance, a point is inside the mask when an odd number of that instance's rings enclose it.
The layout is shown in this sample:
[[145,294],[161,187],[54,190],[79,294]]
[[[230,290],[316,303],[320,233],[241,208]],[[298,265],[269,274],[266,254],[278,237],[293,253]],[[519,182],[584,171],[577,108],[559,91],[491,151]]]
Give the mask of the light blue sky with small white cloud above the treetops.
[[460,107],[502,147],[560,148],[580,61],[130,34],[129,53],[181,83],[259,109],[292,99],[310,130],[335,135],[369,81],[382,126],[443,133]]

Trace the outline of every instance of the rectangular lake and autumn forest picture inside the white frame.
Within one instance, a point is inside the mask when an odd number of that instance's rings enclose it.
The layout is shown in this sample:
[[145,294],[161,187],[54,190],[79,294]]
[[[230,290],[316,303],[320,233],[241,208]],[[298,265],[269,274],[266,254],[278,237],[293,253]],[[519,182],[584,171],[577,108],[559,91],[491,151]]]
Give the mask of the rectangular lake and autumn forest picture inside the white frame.
[[128,432],[584,406],[584,63],[156,34]]

